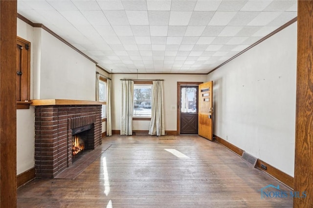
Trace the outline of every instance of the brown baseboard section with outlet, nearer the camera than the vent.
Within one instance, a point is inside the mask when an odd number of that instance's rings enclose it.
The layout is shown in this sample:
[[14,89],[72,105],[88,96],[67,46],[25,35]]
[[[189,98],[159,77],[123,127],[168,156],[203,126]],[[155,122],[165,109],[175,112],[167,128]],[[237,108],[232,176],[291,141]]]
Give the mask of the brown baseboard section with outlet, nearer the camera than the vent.
[[[261,168],[261,164],[265,165],[267,167],[267,169],[265,170],[265,169]],[[283,171],[277,169],[276,167],[269,165],[268,163],[266,163],[260,159],[258,159],[256,161],[255,167],[268,173],[268,175],[276,178],[277,180],[281,181],[282,183],[284,183],[285,185],[287,185],[291,189],[293,189],[294,178],[291,177],[290,175],[284,173]]]

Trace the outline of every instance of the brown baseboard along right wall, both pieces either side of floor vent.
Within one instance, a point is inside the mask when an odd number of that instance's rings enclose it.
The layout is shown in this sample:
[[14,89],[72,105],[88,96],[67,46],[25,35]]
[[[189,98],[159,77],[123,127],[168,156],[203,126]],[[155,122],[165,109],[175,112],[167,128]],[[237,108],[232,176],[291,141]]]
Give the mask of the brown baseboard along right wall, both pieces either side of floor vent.
[[[215,141],[221,144],[222,146],[226,147],[227,149],[233,151],[234,153],[242,157],[244,150],[242,150],[241,148],[230,144],[229,142],[225,141],[224,139],[216,135],[213,135],[213,138],[215,138]],[[261,168],[261,164],[267,166],[267,169],[265,170]],[[283,171],[269,165],[268,163],[260,159],[257,159],[255,167],[258,168],[259,170],[266,172],[268,175],[272,176],[273,178],[277,179],[278,181],[282,182],[286,186],[293,189],[294,178],[291,177],[290,175],[284,173]]]

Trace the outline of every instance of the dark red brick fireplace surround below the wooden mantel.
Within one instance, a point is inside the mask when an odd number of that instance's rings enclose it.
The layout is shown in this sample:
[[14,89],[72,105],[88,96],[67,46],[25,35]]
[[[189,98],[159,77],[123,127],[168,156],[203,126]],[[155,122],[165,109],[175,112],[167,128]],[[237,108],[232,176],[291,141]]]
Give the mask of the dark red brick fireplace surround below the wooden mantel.
[[34,104],[37,178],[54,178],[72,165],[73,129],[89,125],[87,148],[94,149],[101,145],[101,104],[59,103]]

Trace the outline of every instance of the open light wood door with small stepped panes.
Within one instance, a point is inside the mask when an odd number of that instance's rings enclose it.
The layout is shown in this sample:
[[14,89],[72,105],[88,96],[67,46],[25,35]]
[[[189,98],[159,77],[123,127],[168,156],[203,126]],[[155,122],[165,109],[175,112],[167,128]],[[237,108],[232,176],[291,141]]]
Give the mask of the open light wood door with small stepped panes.
[[198,134],[213,140],[213,81],[199,84],[199,130]]

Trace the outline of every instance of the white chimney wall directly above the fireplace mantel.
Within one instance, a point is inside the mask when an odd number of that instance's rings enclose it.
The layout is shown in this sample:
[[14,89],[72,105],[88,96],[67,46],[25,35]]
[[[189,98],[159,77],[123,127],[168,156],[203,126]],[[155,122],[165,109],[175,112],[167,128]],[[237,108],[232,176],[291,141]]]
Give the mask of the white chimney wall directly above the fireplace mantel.
[[40,74],[40,80],[35,80],[40,97],[36,99],[95,101],[95,63],[44,29],[35,33],[40,33],[38,39],[41,36],[40,68],[35,68]]

